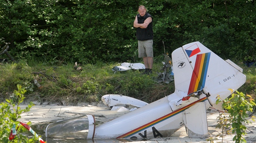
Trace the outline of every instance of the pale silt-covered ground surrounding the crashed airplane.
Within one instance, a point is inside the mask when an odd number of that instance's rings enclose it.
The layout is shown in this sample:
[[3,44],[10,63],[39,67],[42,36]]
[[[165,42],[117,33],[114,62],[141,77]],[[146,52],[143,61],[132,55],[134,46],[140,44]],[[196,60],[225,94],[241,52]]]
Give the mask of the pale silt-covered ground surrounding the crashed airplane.
[[[26,108],[27,105],[21,105],[21,108]],[[95,116],[95,120],[97,123],[102,124],[104,122],[108,122],[128,113],[128,110],[124,111],[111,111],[110,108],[103,103],[99,103],[96,106],[93,105],[80,105],[80,106],[58,106],[58,105],[35,105],[33,106],[29,112],[22,114],[22,118],[20,121],[22,122],[32,122],[32,125],[35,125],[36,130],[41,130],[39,135],[45,137],[45,129],[46,126],[50,122],[55,122],[57,120],[69,119],[81,115],[91,114]],[[207,120],[208,120],[208,131],[210,132],[212,137],[215,137],[217,134],[221,132],[219,128],[215,128],[217,124],[217,116],[219,116],[218,112],[208,112]],[[247,143],[256,143],[256,122],[252,121],[252,124],[247,125],[247,135],[245,139]],[[34,129],[35,130],[35,129]],[[223,139],[223,143],[234,143],[232,138],[234,135],[227,135]],[[90,141],[89,141],[90,142]],[[91,141],[91,142],[102,142],[102,141]],[[103,141],[104,142],[104,141]],[[111,141],[117,142],[117,141]],[[119,141],[118,142],[127,142],[127,141]],[[145,143],[145,142],[158,142],[158,143],[209,143],[205,139],[192,139],[189,138],[184,127],[180,128],[177,132],[171,135],[168,138],[161,139],[150,139],[147,141],[133,141],[137,143]],[[222,142],[221,139],[214,141]],[[56,142],[57,143],[57,142]],[[58,142],[61,143],[61,142]],[[106,143],[106,141],[105,141]]]

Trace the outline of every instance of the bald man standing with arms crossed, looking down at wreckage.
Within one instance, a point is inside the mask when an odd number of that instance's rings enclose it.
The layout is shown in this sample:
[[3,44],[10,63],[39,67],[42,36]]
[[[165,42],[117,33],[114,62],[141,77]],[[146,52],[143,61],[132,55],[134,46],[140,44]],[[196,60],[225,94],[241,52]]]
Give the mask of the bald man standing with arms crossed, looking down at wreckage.
[[151,74],[153,67],[153,24],[152,16],[147,13],[145,6],[139,6],[139,14],[136,15],[133,27],[137,28],[139,58],[143,58],[145,72]]

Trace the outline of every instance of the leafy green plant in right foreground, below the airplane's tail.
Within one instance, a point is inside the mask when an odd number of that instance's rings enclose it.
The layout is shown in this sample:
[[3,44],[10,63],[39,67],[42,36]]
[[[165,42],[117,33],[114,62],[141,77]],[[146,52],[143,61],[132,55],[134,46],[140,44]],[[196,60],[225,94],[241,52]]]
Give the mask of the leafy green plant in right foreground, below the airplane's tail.
[[[252,99],[250,95],[244,95],[241,92],[235,91],[230,98],[222,100],[218,97],[216,104],[220,101],[223,101],[223,109],[227,110],[230,114],[229,116],[221,114],[218,117],[219,121],[216,128],[222,128],[222,135],[220,135],[220,137],[224,137],[224,128],[228,128],[231,125],[232,133],[236,133],[233,141],[235,141],[235,143],[246,143],[246,140],[243,137],[246,135],[245,130],[247,129],[245,124],[251,123],[248,120],[248,112],[252,113],[254,106],[256,106],[254,99]],[[255,117],[252,116],[252,120],[254,120],[254,118]]]

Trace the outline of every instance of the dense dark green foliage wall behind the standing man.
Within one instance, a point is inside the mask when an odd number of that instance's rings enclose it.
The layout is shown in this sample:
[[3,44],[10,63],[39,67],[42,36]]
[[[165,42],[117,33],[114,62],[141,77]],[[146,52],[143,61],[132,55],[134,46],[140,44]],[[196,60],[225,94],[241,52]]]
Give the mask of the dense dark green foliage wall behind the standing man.
[[[153,16],[154,54],[195,41],[222,58],[255,58],[254,0],[0,0],[0,38],[15,59],[122,61],[136,52],[133,21]],[[3,45],[0,45],[1,47]]]

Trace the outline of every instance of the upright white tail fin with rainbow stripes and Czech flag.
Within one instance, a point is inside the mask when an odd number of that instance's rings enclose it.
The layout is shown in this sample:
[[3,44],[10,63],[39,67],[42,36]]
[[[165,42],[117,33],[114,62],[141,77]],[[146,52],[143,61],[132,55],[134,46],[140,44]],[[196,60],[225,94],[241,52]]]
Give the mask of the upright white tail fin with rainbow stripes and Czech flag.
[[200,42],[174,50],[172,60],[176,90],[187,95],[202,90],[213,106],[217,95],[225,99],[231,94],[229,89],[237,90],[246,81],[239,66],[224,61]]

